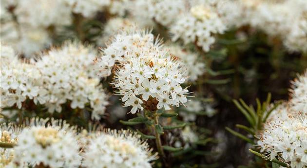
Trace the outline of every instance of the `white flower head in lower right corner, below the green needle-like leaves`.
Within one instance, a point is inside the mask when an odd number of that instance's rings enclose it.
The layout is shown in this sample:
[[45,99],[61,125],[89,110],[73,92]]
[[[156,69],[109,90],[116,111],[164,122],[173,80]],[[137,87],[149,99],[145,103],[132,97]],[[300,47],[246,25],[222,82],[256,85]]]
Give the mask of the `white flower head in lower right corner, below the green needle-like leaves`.
[[291,168],[307,166],[307,116],[290,108],[278,109],[281,114],[269,120],[260,134],[258,145],[267,159],[278,158]]

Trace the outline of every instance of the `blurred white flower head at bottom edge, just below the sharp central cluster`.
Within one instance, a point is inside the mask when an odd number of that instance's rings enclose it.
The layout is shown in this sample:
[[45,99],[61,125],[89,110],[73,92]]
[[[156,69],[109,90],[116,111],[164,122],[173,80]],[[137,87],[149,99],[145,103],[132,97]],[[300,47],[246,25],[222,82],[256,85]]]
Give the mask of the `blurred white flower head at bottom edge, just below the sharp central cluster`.
[[149,145],[130,131],[108,130],[96,135],[84,149],[85,168],[152,168],[157,159]]

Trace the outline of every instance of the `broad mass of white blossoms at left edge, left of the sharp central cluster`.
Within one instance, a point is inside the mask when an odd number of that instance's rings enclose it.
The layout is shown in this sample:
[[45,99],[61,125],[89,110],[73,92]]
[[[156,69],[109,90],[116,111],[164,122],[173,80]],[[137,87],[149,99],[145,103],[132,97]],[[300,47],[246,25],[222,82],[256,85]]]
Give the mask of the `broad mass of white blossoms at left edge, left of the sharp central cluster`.
[[83,109],[90,103],[92,118],[99,119],[108,102],[91,69],[95,57],[92,47],[68,42],[30,64],[17,59],[1,62],[2,106],[16,104],[20,109],[21,103],[29,98],[35,104],[43,104],[48,112],[61,112],[61,105],[70,100],[73,109]]

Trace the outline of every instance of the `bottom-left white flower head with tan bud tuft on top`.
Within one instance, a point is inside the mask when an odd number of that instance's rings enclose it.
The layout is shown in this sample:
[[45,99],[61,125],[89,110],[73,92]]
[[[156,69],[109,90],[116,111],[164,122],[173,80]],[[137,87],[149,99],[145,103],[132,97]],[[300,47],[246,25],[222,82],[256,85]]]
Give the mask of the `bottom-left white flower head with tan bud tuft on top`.
[[65,121],[32,120],[14,147],[14,162],[49,168],[77,168],[81,164],[76,131]]

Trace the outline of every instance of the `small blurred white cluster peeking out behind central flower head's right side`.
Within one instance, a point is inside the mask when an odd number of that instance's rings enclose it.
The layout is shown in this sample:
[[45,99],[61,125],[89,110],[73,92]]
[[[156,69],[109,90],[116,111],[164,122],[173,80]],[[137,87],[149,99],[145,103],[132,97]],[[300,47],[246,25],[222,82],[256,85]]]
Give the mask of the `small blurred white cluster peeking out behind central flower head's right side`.
[[189,76],[190,81],[196,81],[198,76],[205,73],[205,63],[199,59],[198,55],[188,50],[182,49],[179,45],[167,46],[171,55],[178,57],[188,69],[183,72],[186,76]]

